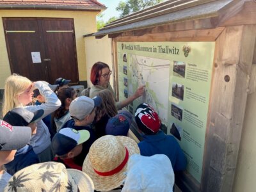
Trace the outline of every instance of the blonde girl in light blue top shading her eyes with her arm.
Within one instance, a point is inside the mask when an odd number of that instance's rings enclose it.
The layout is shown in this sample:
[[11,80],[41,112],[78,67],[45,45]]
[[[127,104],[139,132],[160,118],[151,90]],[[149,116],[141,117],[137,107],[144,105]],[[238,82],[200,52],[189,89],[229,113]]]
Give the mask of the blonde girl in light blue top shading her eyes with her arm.
[[[27,106],[32,102],[33,90],[38,89],[45,97],[45,103],[40,106]],[[44,110],[41,120],[36,123],[36,134],[31,137],[30,144],[38,155],[40,162],[51,161],[53,154],[51,150],[51,138],[47,126],[42,118],[49,115],[61,105],[60,100],[51,88],[42,81],[32,83],[27,77],[13,74],[6,79],[4,86],[3,116],[13,108],[23,107],[31,112],[39,109]]]

